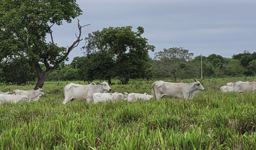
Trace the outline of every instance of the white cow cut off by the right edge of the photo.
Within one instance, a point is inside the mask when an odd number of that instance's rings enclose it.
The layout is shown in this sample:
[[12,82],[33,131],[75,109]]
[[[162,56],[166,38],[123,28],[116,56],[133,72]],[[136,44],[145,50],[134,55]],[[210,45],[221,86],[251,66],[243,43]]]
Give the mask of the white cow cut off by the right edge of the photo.
[[256,80],[252,82],[235,82],[235,92],[255,92],[256,91]]

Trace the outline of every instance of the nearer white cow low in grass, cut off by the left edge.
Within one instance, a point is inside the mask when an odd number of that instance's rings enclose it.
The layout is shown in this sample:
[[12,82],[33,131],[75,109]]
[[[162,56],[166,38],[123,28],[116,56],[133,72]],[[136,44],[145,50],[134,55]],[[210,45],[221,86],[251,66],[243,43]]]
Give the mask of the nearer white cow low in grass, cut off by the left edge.
[[17,95],[17,94],[0,94],[0,104],[5,102],[18,103],[20,101],[28,102],[28,97]]

